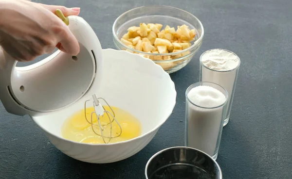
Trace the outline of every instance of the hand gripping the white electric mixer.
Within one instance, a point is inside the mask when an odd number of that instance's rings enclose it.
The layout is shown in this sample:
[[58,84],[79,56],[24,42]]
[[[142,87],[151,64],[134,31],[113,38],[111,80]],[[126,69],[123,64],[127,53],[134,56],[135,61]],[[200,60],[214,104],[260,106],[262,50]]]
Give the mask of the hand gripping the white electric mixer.
[[18,61],[31,61],[57,47],[71,55],[79,44],[67,25],[55,15],[79,15],[80,8],[45,5],[26,0],[0,0],[0,45]]

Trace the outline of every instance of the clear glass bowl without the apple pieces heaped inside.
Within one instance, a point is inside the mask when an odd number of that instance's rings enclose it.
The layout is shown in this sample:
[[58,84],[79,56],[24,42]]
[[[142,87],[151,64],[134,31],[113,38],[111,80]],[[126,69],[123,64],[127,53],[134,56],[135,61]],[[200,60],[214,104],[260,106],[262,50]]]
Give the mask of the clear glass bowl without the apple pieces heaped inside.
[[[123,44],[120,39],[128,28],[139,26],[140,23],[159,23],[170,27],[187,25],[189,29],[196,30],[195,40],[191,41],[191,47],[172,53],[147,53],[131,49]],[[112,27],[113,41],[117,49],[127,50],[132,53],[138,53],[146,58],[153,60],[157,65],[163,67],[167,73],[173,73],[187,65],[195,53],[199,50],[204,36],[204,29],[201,21],[194,15],[183,11],[182,9],[168,6],[143,6],[129,10],[119,16]]]

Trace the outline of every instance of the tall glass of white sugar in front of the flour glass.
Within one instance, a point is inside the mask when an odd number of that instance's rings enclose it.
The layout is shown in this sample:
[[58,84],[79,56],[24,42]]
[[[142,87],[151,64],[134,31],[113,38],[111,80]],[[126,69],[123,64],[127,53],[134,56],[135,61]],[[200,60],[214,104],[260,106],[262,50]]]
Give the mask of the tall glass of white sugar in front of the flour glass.
[[213,82],[197,82],[187,88],[185,98],[185,146],[199,149],[216,160],[228,92]]

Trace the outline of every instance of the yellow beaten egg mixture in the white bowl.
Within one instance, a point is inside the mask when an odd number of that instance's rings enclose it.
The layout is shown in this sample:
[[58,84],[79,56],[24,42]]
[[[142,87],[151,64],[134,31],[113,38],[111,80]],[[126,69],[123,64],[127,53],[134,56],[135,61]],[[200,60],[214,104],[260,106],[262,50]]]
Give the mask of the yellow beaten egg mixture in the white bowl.
[[[111,112],[108,106],[104,106],[105,109]],[[140,121],[135,118],[133,115],[129,114],[127,111],[124,111],[120,108],[111,106],[112,110],[115,113],[115,118],[119,122],[122,128],[122,134],[119,137],[111,138],[110,143],[117,143],[122,141],[127,141],[138,137],[142,133],[142,127]],[[91,122],[91,112],[94,111],[93,107],[86,108],[87,119]],[[81,143],[90,143],[90,144],[104,144],[104,141],[101,136],[96,135],[92,128],[91,124],[87,122],[85,118],[85,110],[80,110],[77,113],[69,117],[62,126],[61,134],[65,139],[81,142]],[[112,120],[112,117],[110,116]],[[94,131],[98,134],[101,134],[100,128],[98,126],[98,120],[95,114],[92,115],[92,122]],[[107,114],[100,116],[100,123],[103,129],[104,136],[110,136],[110,122]],[[108,125],[106,125],[108,124]],[[118,124],[112,122],[112,137],[118,136],[121,130]],[[105,141],[108,142],[109,138],[105,138]]]

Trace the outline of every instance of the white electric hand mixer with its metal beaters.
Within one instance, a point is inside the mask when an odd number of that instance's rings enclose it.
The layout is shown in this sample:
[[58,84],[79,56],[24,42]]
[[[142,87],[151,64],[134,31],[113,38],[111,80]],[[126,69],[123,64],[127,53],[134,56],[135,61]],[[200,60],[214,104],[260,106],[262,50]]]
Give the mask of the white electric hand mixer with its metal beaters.
[[[84,97],[92,86],[99,86],[102,80],[102,48],[91,26],[79,16],[65,17],[60,10],[56,11],[69,27],[79,42],[80,52],[71,56],[60,50],[36,64],[18,67],[17,61],[4,50],[0,53],[0,100],[6,111],[16,115],[46,115],[49,112],[62,110]],[[118,137],[122,128],[115,119],[115,114],[103,98],[92,95],[94,112],[91,113],[91,124],[95,134],[102,136],[104,143]],[[110,107],[106,111],[100,99]],[[85,111],[86,103],[85,101]],[[92,123],[92,115],[97,117],[98,124]],[[99,117],[107,114],[110,124],[110,136],[103,135],[103,126]],[[120,133],[111,135],[112,122],[117,122]],[[94,130],[99,126],[100,133]],[[108,140],[105,140],[108,138]]]

